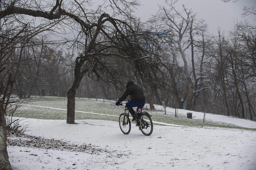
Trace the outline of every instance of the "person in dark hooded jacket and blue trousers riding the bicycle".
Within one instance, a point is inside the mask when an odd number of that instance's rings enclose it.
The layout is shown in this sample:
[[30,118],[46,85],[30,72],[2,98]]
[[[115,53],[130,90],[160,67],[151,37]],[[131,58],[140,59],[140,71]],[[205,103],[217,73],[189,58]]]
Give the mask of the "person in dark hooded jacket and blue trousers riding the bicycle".
[[126,103],[126,107],[133,117],[132,121],[134,121],[137,114],[134,112],[133,107],[143,107],[145,105],[145,96],[142,88],[139,85],[134,84],[132,80],[127,82],[126,90],[123,93],[123,96],[118,99],[116,105],[119,106],[120,102],[124,101],[127,96],[130,96],[131,100]]

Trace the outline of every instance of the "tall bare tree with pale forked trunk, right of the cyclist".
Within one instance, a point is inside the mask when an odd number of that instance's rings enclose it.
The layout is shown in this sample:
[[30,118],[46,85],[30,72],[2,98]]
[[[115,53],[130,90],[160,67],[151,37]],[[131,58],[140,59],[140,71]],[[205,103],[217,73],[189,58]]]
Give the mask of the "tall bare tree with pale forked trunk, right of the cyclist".
[[[186,78],[186,93],[183,99],[179,99],[180,97],[177,92],[174,94],[176,94],[176,98],[179,100],[180,105],[186,101],[186,109],[190,110],[193,109],[194,104],[196,103],[194,98],[197,98],[200,91],[204,89],[202,86],[198,85],[201,76],[197,77],[194,62],[194,35],[199,35],[197,32],[201,29],[201,23],[195,22],[195,15],[192,13],[192,10],[187,9],[185,5],[182,5],[183,11],[179,12],[175,8],[176,1],[166,0],[165,2],[165,7],[161,7],[160,14],[155,16],[154,20],[158,21],[158,27],[165,29],[166,34],[170,35],[166,41],[169,42],[168,44],[171,48],[179,52],[179,56],[182,59],[182,67]],[[194,82],[191,78],[189,68],[190,57],[187,56],[186,53],[189,49],[191,49],[191,64]],[[175,87],[176,85],[173,86]]]

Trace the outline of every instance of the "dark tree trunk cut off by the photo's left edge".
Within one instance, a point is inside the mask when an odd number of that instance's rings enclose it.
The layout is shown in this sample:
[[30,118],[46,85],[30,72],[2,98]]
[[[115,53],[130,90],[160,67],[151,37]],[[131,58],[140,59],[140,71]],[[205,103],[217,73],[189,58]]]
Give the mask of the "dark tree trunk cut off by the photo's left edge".
[[[1,23],[1,29],[6,27],[8,21],[5,20]],[[8,160],[7,153],[7,134],[6,134],[6,122],[5,113],[8,105],[11,103],[10,98],[13,93],[13,85],[16,80],[17,71],[12,70],[15,66],[19,66],[21,61],[20,55],[12,60],[11,53],[16,47],[17,43],[22,42],[25,37],[22,34],[25,32],[27,25],[23,25],[20,31],[16,31],[17,27],[12,27],[12,29],[1,30],[1,41],[0,41],[0,167],[4,170],[11,170],[11,165]],[[24,35],[24,34],[23,34]],[[20,53],[22,53],[22,47]],[[16,69],[17,70],[17,69]]]

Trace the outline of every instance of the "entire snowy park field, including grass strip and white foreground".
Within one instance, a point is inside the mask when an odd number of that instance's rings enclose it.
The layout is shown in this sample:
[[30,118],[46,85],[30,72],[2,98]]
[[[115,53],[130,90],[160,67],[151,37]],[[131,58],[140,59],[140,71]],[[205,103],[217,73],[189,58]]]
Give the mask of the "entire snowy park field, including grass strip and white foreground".
[[179,109],[176,118],[173,108],[163,115],[155,105],[153,121],[171,126],[154,124],[148,137],[132,123],[124,135],[117,122],[123,107],[114,101],[76,99],[76,124],[66,124],[65,100],[45,97],[19,109],[32,138],[8,136],[14,170],[256,170],[256,122],[207,113],[204,124],[202,112]]

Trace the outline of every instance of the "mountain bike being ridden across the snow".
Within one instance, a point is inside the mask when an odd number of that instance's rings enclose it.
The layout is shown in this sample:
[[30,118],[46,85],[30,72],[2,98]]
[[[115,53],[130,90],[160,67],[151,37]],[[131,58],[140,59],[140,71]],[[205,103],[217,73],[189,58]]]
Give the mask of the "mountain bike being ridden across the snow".
[[[119,116],[119,127],[124,134],[129,134],[131,131],[131,121],[129,118],[128,108],[124,105],[126,103],[120,103],[124,106],[124,113]],[[142,107],[137,107],[137,117],[135,119],[136,126],[146,136],[151,135],[153,132],[153,122],[151,116],[147,112],[142,112]]]

